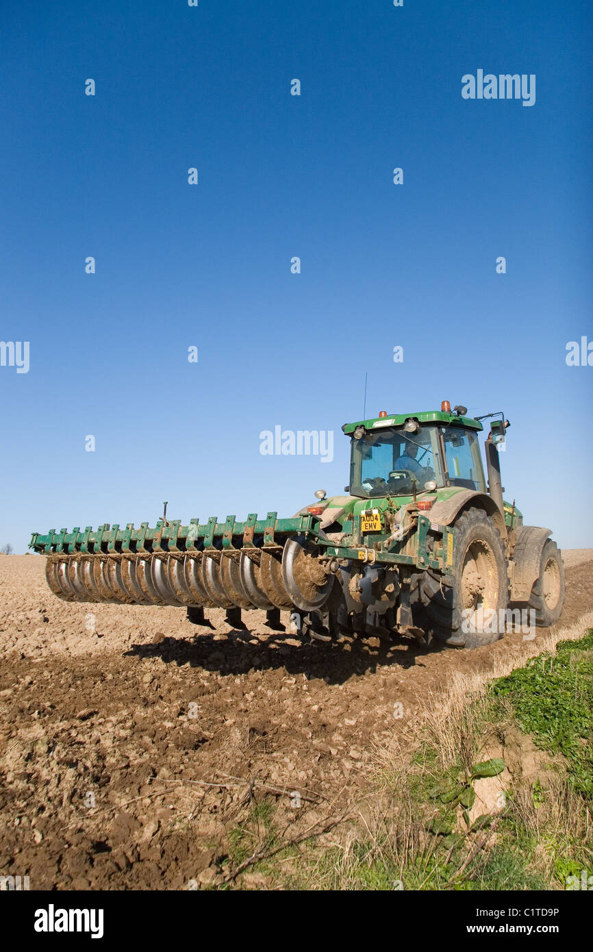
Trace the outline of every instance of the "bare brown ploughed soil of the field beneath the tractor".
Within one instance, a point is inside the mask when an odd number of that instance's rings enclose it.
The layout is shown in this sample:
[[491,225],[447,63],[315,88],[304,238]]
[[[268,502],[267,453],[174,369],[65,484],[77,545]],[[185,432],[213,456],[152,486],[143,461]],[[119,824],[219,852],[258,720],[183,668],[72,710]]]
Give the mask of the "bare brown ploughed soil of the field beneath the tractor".
[[[593,549],[563,555],[559,626],[593,608]],[[474,651],[301,642],[259,611],[198,627],[180,608],[61,602],[44,567],[0,556],[0,876],[31,889],[223,883],[254,803],[296,834],[323,828],[377,744],[413,740],[428,692],[525,652],[522,634]]]

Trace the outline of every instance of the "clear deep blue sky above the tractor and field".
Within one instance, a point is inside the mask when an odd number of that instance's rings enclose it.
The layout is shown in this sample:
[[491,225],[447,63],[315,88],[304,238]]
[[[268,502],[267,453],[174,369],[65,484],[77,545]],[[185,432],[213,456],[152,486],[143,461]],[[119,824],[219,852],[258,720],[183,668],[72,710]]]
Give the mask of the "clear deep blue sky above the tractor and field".
[[[0,545],[342,491],[366,372],[369,416],[504,410],[506,497],[593,545],[593,367],[565,364],[593,341],[588,12],[2,10],[0,340],[30,370],[0,367]],[[535,74],[535,105],[463,99],[477,69]],[[263,456],[276,425],[334,430],[333,461]]]

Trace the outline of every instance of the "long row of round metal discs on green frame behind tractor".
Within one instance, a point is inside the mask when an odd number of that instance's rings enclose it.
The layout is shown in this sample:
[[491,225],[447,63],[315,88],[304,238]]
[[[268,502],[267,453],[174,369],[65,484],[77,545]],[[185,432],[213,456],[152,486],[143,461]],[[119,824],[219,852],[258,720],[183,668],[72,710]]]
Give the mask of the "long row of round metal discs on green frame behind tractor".
[[49,587],[67,602],[312,611],[334,582],[315,535],[309,516],[268,513],[244,524],[228,516],[223,524],[211,517],[204,525],[51,530],[35,533],[31,546],[48,556]]

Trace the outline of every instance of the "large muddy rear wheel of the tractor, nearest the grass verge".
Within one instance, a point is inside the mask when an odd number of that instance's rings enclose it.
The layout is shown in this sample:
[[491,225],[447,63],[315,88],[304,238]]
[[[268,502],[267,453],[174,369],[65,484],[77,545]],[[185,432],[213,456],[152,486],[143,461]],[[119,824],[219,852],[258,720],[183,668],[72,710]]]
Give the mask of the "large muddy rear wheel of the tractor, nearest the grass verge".
[[[466,648],[490,645],[504,633],[504,625],[499,624],[508,593],[503,543],[482,509],[462,513],[453,533],[452,585],[441,585],[439,577],[423,573],[415,618],[429,643]],[[496,612],[495,618],[492,611]]]

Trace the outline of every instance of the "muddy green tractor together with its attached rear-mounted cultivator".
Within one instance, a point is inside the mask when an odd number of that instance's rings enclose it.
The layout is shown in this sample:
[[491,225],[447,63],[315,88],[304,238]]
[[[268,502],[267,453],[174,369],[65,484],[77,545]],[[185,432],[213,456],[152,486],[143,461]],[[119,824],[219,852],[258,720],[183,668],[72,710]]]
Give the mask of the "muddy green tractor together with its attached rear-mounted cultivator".
[[[563,610],[563,560],[551,530],[524,526],[504,502],[502,413],[478,419],[441,410],[345,424],[351,443],[345,495],[291,519],[216,516],[187,526],[165,513],[142,523],[33,533],[51,591],[69,602],[179,605],[197,625],[204,609],[265,609],[268,624],[330,641],[340,632],[402,634],[423,645],[478,647],[512,621],[552,625]],[[485,441],[487,487],[478,439]],[[523,628],[522,628],[523,630]]]

